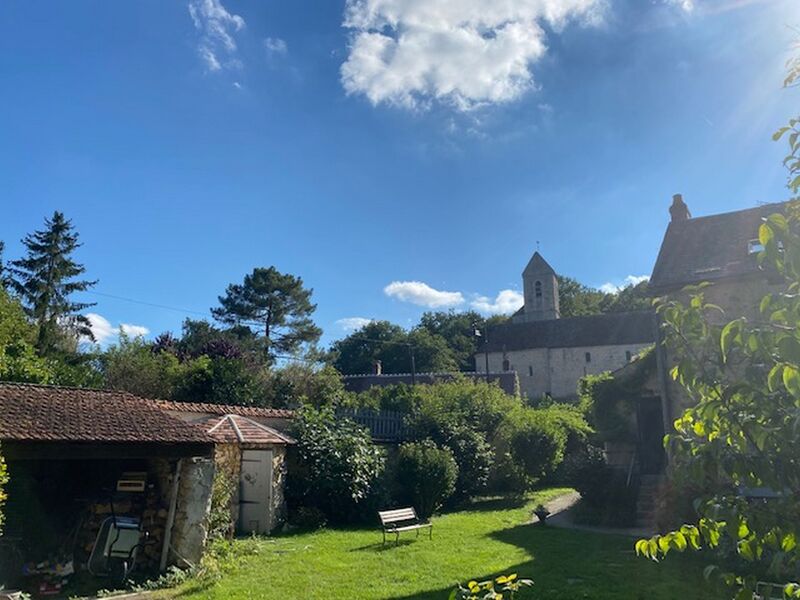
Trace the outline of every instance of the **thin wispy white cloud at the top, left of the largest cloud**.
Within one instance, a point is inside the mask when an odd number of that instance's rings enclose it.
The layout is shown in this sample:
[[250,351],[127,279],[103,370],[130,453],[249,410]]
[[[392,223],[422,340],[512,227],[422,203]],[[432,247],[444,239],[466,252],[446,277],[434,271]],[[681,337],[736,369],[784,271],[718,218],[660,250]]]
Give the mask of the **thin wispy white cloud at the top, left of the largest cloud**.
[[228,12],[220,0],[190,0],[189,15],[200,32],[197,52],[206,68],[220,71],[240,67],[234,34],[244,28],[244,19]]

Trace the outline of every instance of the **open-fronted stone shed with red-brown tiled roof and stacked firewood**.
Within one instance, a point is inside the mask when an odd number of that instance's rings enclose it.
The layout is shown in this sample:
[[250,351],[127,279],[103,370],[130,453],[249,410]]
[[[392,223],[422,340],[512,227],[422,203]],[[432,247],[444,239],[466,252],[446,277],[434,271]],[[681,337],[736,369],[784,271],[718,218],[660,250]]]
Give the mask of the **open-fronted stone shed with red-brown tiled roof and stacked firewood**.
[[[0,442],[11,477],[4,537],[20,540],[26,562],[85,569],[111,515],[140,519],[149,534],[141,567],[200,558],[215,443],[202,428],[124,392],[0,383]],[[9,577],[21,565],[0,566]]]

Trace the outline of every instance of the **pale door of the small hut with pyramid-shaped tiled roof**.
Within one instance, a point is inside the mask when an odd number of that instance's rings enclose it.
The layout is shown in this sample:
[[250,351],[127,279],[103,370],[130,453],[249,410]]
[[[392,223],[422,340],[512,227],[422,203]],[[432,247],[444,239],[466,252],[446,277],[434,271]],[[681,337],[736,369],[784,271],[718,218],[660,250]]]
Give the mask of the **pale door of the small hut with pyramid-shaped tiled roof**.
[[239,530],[269,533],[272,527],[272,450],[243,450]]

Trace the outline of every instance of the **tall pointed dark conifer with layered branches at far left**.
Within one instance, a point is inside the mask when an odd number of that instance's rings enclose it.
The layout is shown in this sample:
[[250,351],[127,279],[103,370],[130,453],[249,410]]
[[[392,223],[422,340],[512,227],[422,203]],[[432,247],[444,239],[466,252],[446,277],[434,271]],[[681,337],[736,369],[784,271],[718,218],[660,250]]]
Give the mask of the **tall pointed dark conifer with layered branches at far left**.
[[39,353],[47,355],[74,344],[79,336],[93,340],[89,320],[78,313],[94,305],[71,300],[74,293],[97,283],[76,279],[86,269],[72,259],[81,246],[72,222],[56,211],[45,219],[43,230],[25,236],[22,243],[27,256],[11,261],[10,284],[36,323]]

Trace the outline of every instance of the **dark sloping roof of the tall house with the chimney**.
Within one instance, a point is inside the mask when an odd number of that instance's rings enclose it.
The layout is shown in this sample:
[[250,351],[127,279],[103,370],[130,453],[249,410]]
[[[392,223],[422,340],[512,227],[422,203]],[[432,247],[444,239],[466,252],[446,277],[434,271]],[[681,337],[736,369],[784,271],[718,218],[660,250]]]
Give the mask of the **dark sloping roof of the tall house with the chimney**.
[[680,288],[702,281],[746,277],[760,272],[748,244],[758,239],[762,220],[781,212],[785,203],[672,221],[664,234],[650,289]]

